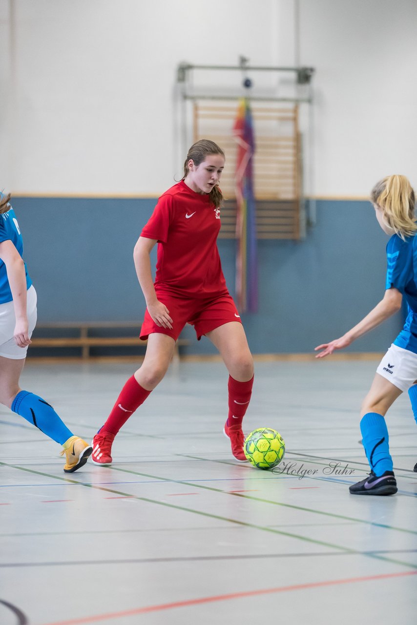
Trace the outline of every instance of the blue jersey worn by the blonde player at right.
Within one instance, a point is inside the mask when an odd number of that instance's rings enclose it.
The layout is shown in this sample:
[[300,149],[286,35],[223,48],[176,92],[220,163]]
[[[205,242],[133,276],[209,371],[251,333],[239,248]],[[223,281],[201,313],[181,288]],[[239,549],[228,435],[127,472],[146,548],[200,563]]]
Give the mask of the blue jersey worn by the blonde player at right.
[[404,327],[394,345],[417,354],[417,236],[405,241],[393,234],[386,246],[388,269],[385,288],[392,286],[403,294],[408,307]]

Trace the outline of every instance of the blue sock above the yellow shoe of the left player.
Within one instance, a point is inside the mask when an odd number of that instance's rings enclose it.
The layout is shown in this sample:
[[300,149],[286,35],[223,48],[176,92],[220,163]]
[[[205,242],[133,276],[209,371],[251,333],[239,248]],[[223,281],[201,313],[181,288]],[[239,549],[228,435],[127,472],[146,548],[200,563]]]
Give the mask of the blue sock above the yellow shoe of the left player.
[[60,445],[73,436],[73,432],[69,431],[53,407],[33,392],[18,392],[14,397],[12,410]]

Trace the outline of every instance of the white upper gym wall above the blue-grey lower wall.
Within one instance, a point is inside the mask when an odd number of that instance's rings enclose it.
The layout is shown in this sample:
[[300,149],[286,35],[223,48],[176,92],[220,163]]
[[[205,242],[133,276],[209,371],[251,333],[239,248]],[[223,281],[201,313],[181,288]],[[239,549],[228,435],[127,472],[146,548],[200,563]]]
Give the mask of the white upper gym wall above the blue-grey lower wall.
[[416,23],[415,0],[0,0],[0,187],[160,194],[185,156],[178,64],[241,54],[316,69],[306,191],[417,184]]

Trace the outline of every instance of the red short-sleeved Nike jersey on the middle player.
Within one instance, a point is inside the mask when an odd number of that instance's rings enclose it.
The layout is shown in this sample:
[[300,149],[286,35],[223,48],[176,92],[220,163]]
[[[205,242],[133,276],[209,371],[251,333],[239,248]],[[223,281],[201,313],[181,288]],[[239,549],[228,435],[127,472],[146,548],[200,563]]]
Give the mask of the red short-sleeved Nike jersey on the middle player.
[[209,195],[184,181],[159,197],[141,232],[158,241],[156,289],[199,298],[228,293],[216,243],[220,223],[220,209]]

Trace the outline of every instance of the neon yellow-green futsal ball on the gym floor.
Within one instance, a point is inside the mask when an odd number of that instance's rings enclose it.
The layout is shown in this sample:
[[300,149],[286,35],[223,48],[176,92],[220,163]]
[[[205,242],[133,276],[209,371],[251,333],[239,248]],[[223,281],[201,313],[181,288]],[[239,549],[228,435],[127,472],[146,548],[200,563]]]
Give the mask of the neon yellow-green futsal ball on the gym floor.
[[243,451],[254,467],[272,469],[284,457],[285,442],[271,427],[259,427],[246,437]]

